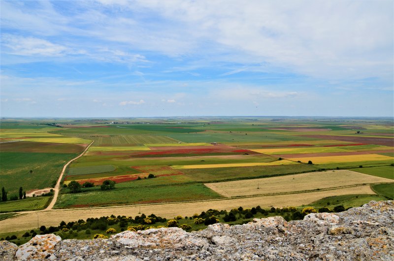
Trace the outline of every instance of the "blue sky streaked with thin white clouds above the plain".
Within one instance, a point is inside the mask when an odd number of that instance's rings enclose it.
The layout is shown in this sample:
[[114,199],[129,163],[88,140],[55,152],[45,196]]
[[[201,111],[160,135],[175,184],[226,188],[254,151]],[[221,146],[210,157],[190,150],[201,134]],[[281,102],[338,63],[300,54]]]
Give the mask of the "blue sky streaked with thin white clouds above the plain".
[[2,117],[393,116],[393,0],[4,1]]

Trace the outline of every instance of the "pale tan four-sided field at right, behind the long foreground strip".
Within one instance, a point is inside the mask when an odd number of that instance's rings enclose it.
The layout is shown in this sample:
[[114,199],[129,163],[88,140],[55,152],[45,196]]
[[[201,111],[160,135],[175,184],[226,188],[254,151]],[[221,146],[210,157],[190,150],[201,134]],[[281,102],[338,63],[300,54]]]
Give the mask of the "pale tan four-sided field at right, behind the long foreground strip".
[[[339,186],[384,182],[393,182],[393,180],[351,170],[330,170],[281,177],[207,183],[204,185],[223,196],[231,197],[324,190],[338,188]],[[259,189],[257,189],[258,186]]]

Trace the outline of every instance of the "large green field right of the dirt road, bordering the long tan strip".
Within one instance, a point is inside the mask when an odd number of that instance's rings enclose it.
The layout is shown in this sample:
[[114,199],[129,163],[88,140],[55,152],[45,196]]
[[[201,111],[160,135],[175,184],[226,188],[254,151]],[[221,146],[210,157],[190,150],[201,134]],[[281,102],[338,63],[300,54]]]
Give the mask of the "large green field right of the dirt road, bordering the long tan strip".
[[97,190],[78,194],[62,194],[56,202],[55,208],[205,200],[220,197],[219,194],[199,183],[117,188],[110,191]]

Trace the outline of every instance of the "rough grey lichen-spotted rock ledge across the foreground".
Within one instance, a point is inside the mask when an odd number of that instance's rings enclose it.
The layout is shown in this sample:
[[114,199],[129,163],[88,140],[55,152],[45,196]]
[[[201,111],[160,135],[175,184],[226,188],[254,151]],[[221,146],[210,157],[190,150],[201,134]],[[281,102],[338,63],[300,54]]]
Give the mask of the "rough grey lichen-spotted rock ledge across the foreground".
[[394,260],[394,201],[371,201],[304,220],[254,219],[200,231],[124,231],[109,239],[60,240],[37,235],[17,248],[0,242],[1,260]]

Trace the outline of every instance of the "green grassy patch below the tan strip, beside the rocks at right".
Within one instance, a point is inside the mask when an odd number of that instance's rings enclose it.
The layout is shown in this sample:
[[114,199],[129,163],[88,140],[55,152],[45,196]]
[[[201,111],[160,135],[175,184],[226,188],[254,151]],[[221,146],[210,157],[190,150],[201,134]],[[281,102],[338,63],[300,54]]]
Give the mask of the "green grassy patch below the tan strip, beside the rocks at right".
[[365,194],[328,196],[304,206],[328,207],[329,209],[333,209],[335,206],[343,205],[345,208],[348,208],[348,207],[359,207],[365,203],[368,203],[371,200],[380,201],[380,200],[386,200],[386,198],[378,195],[365,195]]

